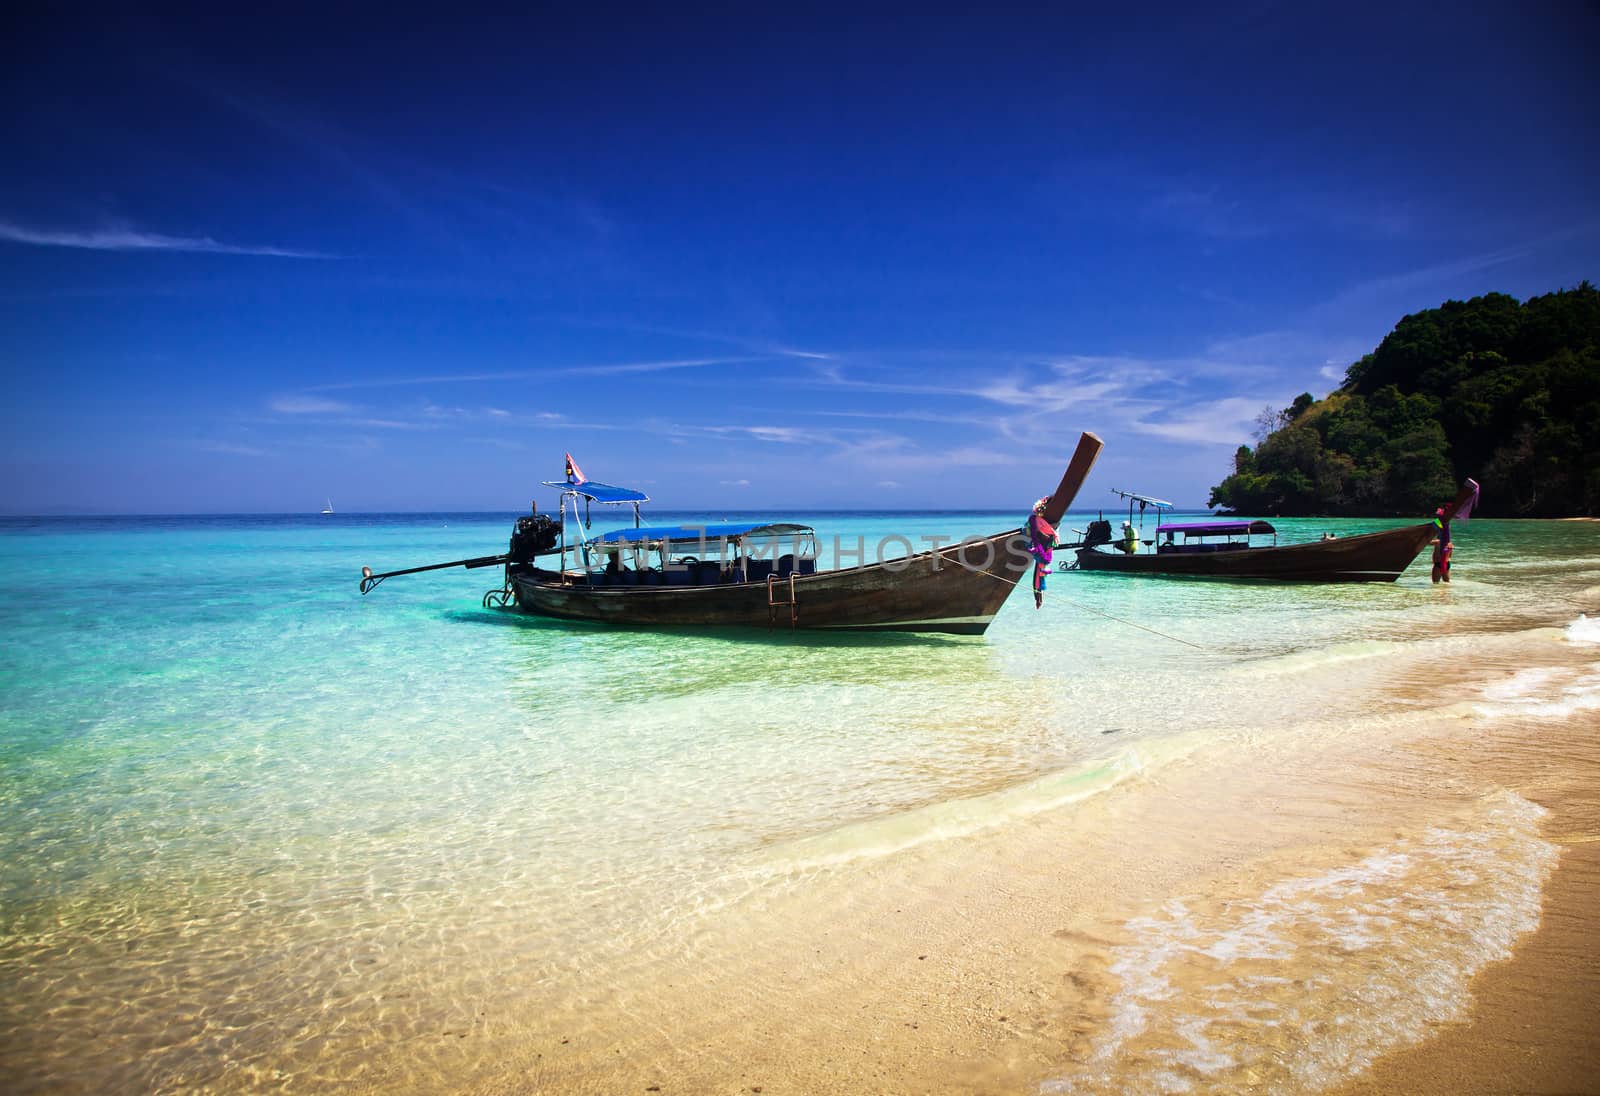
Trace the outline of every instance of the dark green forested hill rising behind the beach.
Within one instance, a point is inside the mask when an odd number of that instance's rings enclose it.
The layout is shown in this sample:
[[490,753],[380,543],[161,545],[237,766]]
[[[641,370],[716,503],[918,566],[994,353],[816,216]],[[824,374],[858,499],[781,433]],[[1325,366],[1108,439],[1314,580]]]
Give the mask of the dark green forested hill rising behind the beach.
[[1600,290],[1408,315],[1341,389],[1262,418],[1211,506],[1421,517],[1470,475],[1486,517],[1600,515]]

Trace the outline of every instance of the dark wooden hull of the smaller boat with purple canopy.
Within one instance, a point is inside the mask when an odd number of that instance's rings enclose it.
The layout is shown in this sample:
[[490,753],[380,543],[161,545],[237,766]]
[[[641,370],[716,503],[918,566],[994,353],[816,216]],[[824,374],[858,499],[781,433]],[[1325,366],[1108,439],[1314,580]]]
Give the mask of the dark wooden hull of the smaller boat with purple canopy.
[[1078,570],[1122,574],[1277,579],[1282,582],[1394,582],[1438,530],[1410,525],[1363,536],[1224,552],[1144,552],[1125,555],[1078,549]]

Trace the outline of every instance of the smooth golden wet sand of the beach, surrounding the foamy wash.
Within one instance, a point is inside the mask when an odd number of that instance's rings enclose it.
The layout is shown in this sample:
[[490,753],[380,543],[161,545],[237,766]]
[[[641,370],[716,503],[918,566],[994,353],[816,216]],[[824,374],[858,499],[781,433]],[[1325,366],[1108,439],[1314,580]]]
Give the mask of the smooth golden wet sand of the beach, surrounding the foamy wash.
[[[1595,712],[1563,723],[1456,714],[1376,736],[1330,728],[1251,742],[1248,766],[1197,750],[1003,834],[757,899],[688,952],[653,957],[632,987],[598,987],[531,1024],[490,1021],[477,1048],[442,1040],[432,1069],[376,1070],[371,1086],[1133,1091],[1162,1074],[1106,1051],[1130,918],[1173,896],[1195,910],[1250,904],[1510,787],[1550,811],[1539,829],[1560,862],[1539,928],[1472,981],[1459,1019],[1432,1021],[1424,1042],[1376,1062],[1294,1074],[1274,1072],[1267,1056],[1259,1069],[1178,1075],[1192,1091],[1600,1091],[1597,742]],[[1205,987],[1179,981],[1178,990]],[[1338,1011],[1334,998],[1326,1022],[1342,1022]],[[1245,1026],[1240,1046],[1269,1030]],[[1168,1034],[1147,1038],[1150,1053],[1171,1053]],[[1280,1050],[1294,1058],[1299,1048],[1291,1038]]]

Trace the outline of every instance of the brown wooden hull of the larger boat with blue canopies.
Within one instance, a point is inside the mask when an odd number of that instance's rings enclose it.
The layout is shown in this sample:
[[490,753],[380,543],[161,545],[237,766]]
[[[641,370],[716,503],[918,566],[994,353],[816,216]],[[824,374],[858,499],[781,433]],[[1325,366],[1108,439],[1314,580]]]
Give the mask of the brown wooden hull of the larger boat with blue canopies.
[[520,611],[563,621],[982,635],[1030,562],[1027,538],[1010,530],[886,563],[797,574],[792,587],[787,578],[771,589],[590,586],[544,570],[512,573],[510,584]]

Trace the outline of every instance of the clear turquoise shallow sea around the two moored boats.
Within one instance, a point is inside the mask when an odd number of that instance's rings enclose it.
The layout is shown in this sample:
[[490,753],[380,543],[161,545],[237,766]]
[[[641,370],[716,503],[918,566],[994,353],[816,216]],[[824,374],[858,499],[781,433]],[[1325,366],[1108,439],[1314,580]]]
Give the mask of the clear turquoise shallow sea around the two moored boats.
[[[1021,515],[794,518],[826,566],[835,536]],[[603,1027],[754,901],[1078,810],[1168,755],[1362,733],[1430,704],[1394,699],[1418,667],[1493,669],[1438,704],[1600,698],[1579,522],[1458,526],[1448,587],[1426,554],[1394,586],[1062,573],[984,637],[608,630],[482,608],[496,570],[357,592],[362,565],[502,550],[512,520],[0,520],[8,1091],[470,1088],[485,1045]],[[445,1034],[478,1056],[429,1072]],[[1138,1075],[1115,1062],[1078,1086]],[[1038,1080],[1064,1077],[1066,1053]]]

